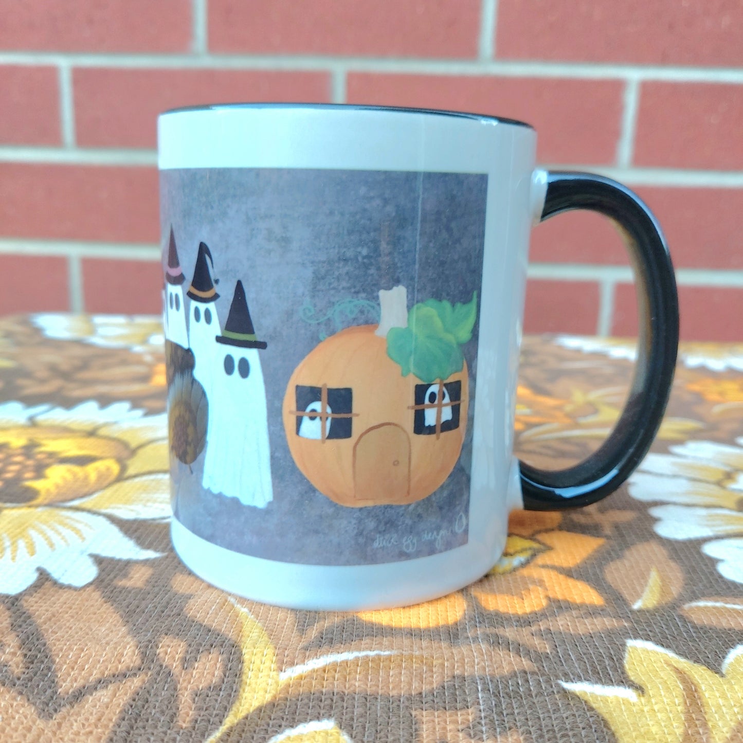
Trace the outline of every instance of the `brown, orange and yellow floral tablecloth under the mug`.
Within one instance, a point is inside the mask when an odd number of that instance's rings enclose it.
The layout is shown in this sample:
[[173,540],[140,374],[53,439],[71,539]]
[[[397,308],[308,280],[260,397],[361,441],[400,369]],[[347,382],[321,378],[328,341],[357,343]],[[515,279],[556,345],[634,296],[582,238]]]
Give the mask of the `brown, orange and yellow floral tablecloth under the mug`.
[[[681,349],[628,484],[514,513],[504,556],[389,611],[289,611],[169,545],[150,318],[0,321],[0,740],[743,741],[743,347]],[[617,420],[634,346],[530,338],[519,455],[564,467]]]

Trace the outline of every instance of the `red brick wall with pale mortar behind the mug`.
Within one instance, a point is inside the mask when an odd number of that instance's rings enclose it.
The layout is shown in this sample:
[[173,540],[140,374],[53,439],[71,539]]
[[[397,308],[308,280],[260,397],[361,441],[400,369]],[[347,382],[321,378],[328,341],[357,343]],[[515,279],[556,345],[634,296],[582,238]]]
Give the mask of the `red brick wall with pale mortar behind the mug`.
[[[158,310],[158,111],[333,101],[531,121],[542,163],[657,212],[683,337],[743,340],[741,0],[0,0],[0,19],[0,312]],[[606,221],[555,218],[526,330],[633,334],[630,282]]]

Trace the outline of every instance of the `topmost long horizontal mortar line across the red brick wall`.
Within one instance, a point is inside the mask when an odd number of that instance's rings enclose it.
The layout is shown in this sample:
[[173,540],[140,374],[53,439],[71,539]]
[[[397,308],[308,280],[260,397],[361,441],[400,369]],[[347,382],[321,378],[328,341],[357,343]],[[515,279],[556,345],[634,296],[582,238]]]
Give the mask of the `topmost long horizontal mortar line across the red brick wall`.
[[483,75],[502,77],[568,77],[585,80],[633,79],[669,82],[727,82],[743,84],[743,68],[684,65],[605,64],[594,62],[533,62],[509,59],[421,59],[415,57],[357,57],[238,54],[111,54],[59,52],[0,52],[0,65],[72,65],[74,67],[244,69],[328,71],[342,65],[351,72]]

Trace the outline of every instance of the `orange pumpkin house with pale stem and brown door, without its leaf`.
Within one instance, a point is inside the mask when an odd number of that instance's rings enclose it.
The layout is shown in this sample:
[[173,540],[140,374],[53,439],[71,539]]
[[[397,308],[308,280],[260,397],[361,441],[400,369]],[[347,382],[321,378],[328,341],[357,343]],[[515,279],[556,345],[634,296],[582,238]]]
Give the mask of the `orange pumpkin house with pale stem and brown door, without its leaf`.
[[[415,363],[411,371],[391,357],[388,335],[412,325],[404,288],[380,291],[380,304],[379,325],[346,328],[299,363],[282,408],[296,466],[320,493],[351,507],[431,495],[452,472],[467,429],[461,351],[457,371],[421,379]],[[474,314],[470,334],[473,323]]]

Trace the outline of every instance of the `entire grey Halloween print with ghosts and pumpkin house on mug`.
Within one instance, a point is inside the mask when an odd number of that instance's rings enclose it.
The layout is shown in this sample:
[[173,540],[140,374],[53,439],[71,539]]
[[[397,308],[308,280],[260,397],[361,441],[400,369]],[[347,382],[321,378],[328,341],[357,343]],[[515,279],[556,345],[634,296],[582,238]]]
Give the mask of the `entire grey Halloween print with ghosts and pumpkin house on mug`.
[[484,173],[160,172],[180,525],[296,565],[467,544],[488,192]]

